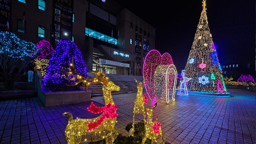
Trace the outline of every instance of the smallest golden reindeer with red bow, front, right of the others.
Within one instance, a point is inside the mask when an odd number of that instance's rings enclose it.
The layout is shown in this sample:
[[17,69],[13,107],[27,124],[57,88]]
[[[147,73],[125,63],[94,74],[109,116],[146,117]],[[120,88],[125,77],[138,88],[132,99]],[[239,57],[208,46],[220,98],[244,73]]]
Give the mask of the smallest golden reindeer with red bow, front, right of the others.
[[154,105],[154,108],[150,107],[148,104],[148,108],[147,108],[147,122],[145,124],[145,136],[141,142],[141,144],[144,144],[145,141],[147,140],[147,138],[149,138],[150,140],[152,140],[151,144],[156,143],[156,139],[158,137],[158,135],[160,135],[163,139],[164,143],[164,137],[162,134],[162,129],[161,129],[161,124],[158,121],[158,118],[156,116],[156,121],[152,122],[152,118],[153,118],[153,114],[154,114],[154,109],[156,108],[157,103]]

